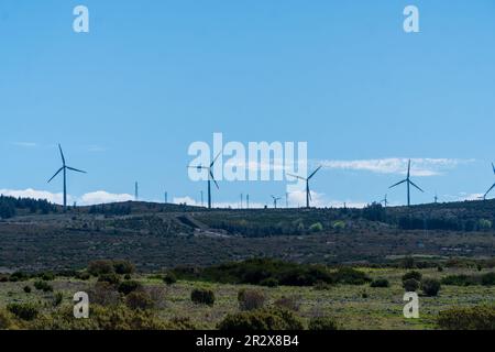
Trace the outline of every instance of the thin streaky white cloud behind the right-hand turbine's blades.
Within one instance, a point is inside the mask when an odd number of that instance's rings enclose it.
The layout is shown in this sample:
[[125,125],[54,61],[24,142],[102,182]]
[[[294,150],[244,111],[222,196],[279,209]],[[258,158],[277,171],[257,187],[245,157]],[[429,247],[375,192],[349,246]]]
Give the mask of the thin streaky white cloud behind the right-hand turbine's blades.
[[[408,158],[381,158],[359,161],[320,161],[327,169],[366,170],[377,174],[407,174]],[[411,158],[411,176],[438,176],[472,160],[457,158]]]

